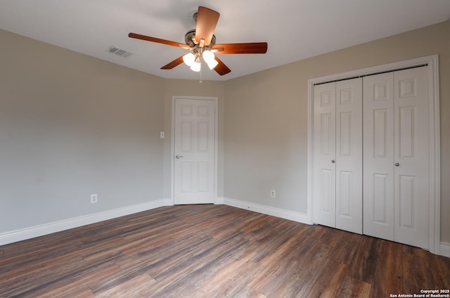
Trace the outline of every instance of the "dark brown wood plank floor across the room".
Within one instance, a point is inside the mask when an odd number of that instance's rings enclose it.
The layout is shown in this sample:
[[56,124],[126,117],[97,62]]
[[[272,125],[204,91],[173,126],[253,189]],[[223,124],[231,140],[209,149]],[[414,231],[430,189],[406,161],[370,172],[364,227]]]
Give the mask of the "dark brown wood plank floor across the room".
[[0,246],[0,297],[390,297],[450,259],[226,205],[162,207]]

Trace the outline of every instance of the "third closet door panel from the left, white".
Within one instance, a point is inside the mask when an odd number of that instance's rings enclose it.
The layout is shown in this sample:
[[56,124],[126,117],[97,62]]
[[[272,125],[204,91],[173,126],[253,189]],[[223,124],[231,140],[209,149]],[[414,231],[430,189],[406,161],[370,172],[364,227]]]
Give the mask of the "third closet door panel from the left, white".
[[392,72],[363,79],[364,234],[394,240]]

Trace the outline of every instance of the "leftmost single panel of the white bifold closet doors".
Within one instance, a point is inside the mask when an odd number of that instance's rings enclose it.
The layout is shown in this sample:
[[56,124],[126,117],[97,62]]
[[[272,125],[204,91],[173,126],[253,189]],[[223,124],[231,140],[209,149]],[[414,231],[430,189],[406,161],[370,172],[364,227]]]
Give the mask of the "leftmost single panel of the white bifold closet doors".
[[336,84],[314,86],[314,222],[336,225]]

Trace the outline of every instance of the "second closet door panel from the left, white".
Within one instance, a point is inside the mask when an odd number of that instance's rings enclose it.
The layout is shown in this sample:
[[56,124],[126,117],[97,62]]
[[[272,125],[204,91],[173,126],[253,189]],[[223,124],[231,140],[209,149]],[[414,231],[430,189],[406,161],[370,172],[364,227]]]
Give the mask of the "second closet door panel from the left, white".
[[336,82],[336,228],[363,232],[362,79]]

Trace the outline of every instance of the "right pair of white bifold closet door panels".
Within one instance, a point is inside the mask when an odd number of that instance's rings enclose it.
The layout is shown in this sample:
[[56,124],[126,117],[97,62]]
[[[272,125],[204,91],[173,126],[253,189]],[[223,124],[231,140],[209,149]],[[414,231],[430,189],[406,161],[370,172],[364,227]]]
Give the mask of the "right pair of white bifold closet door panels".
[[364,234],[428,249],[427,67],[364,77]]

